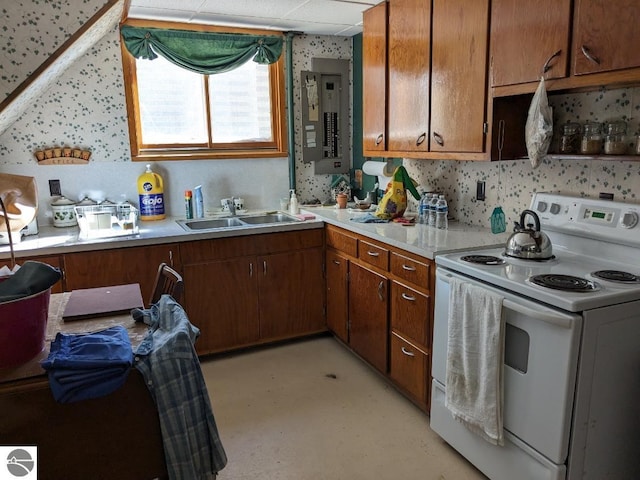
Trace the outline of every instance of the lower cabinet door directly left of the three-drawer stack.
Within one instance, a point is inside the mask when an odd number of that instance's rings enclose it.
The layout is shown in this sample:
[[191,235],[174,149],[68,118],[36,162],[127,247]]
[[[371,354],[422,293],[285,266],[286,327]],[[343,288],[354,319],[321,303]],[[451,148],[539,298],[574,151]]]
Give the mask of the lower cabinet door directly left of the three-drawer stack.
[[388,279],[349,265],[349,343],[362,358],[387,373]]

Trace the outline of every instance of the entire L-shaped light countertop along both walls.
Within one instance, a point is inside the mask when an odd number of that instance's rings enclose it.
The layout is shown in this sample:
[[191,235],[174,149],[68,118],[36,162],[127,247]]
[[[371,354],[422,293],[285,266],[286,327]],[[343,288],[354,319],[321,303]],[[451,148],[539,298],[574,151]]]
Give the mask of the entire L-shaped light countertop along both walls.
[[[352,208],[302,207],[302,213],[315,216],[298,223],[267,224],[242,229],[223,229],[188,232],[176,220],[166,218],[158,221],[141,221],[137,235],[110,238],[85,239],[80,237],[78,227],[39,227],[37,235],[23,237],[14,245],[16,258],[36,255],[58,255],[71,252],[107,250],[163,243],[185,242],[212,238],[244,235],[259,235],[274,232],[323,228],[325,223],[336,225],[363,236],[388,243],[397,248],[433,259],[435,255],[455,250],[473,250],[504,245],[509,233],[493,234],[489,228],[450,222],[449,228],[439,230],[420,224],[403,226],[399,223],[357,223],[351,221],[363,212]],[[261,211],[251,213],[263,213]],[[0,259],[10,258],[8,245],[0,245]],[[0,263],[1,265],[1,263]]]

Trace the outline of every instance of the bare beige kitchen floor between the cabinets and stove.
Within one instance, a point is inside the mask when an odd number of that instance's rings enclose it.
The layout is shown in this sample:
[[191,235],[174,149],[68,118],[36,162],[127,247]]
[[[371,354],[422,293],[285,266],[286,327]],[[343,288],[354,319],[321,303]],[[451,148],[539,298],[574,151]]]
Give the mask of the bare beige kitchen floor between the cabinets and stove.
[[219,480],[485,479],[332,337],[204,360],[202,369],[229,459]]

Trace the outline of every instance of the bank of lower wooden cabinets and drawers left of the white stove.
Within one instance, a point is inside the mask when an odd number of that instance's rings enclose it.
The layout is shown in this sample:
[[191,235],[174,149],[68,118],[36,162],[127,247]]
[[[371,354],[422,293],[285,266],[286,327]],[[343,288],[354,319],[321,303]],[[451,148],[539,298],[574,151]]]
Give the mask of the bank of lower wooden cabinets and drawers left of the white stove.
[[433,261],[327,225],[327,326],[429,411]]

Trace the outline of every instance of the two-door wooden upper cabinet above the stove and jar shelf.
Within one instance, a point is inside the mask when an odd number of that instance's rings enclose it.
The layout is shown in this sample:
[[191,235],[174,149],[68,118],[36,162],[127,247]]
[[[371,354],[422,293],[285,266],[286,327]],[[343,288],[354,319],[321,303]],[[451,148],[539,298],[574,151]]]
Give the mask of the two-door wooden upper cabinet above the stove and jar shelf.
[[494,97],[640,82],[640,2],[492,0]]

